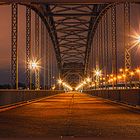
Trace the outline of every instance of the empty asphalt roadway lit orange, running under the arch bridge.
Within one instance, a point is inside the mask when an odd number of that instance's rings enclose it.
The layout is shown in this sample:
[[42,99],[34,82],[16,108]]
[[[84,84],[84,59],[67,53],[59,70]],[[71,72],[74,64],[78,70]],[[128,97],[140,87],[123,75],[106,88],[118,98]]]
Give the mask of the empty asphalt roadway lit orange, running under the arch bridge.
[[140,139],[140,113],[69,92],[0,112],[0,138]]

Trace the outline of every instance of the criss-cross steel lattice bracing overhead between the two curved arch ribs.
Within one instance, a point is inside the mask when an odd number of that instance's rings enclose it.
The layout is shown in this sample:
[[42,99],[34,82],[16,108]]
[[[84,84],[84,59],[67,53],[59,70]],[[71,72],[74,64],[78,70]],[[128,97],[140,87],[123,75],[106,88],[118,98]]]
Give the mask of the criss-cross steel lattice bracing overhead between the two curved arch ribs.
[[[102,10],[102,5],[50,5],[49,17],[53,18],[54,28],[60,48],[62,73],[65,64],[82,64],[84,74],[85,52],[89,41],[90,29]],[[75,68],[74,68],[75,69]],[[67,71],[71,71],[68,70]],[[78,70],[77,70],[78,71]]]

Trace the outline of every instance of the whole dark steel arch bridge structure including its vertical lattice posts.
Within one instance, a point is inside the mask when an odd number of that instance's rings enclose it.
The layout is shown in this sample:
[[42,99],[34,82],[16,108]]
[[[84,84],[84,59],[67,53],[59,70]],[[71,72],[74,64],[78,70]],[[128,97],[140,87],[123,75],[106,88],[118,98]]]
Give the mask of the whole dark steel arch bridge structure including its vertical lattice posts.
[[[139,0],[129,1],[139,4]],[[115,0],[30,0],[30,1],[1,1],[1,5],[12,5],[12,58],[11,58],[11,76],[13,88],[18,88],[18,66],[17,66],[17,7],[18,4],[24,5],[26,9],[26,83],[30,85],[30,49],[31,49],[31,10],[36,12],[36,57],[39,58],[39,17],[44,26],[47,28],[50,40],[52,41],[59,76],[68,80],[69,83],[75,85],[82,77],[89,75],[90,53],[92,46],[97,42],[93,40],[96,35],[97,28],[103,16],[107,16],[107,11],[111,9],[112,23],[112,72],[117,75],[116,62],[116,5],[124,3],[125,10],[125,32],[128,32],[129,23],[129,6],[130,3],[125,0],[120,0],[116,3]],[[106,23],[104,19],[104,23]],[[104,32],[106,32],[107,24],[104,24]],[[102,25],[100,25],[102,26]],[[42,28],[44,28],[42,26]],[[103,30],[100,28],[100,31]],[[101,32],[98,33],[98,38],[101,38]],[[42,34],[44,34],[42,32]],[[104,34],[105,36],[105,34]],[[105,38],[107,39],[107,38]],[[104,39],[104,40],[105,40]],[[94,43],[95,42],[95,43]],[[125,67],[130,68],[130,52],[128,48],[128,40],[125,39]],[[98,44],[99,46],[101,44]],[[99,50],[100,51],[100,50]],[[51,54],[52,55],[52,54]],[[100,53],[99,53],[100,55]],[[104,54],[107,55],[107,54]],[[104,56],[105,57],[105,56]],[[100,61],[96,60],[95,67],[100,67]],[[106,60],[107,61],[107,60]],[[101,62],[103,63],[103,62]],[[97,66],[98,65],[98,66]],[[102,65],[102,64],[101,64]],[[107,72],[106,72],[107,74]],[[37,74],[39,76],[39,74]],[[78,77],[78,78],[77,78]],[[73,82],[76,81],[76,82]],[[39,85],[39,78],[36,79]],[[39,88],[39,87],[38,87]]]

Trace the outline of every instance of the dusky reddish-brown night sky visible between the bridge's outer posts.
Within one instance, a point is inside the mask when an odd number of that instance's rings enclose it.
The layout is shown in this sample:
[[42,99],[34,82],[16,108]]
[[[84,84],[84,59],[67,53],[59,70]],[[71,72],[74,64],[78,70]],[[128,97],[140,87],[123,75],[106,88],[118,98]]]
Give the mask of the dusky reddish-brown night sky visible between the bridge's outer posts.
[[[121,9],[119,7],[118,9]],[[131,10],[131,32],[140,33],[140,5],[133,5]],[[34,17],[34,13],[32,12]],[[118,10],[118,18],[121,17],[121,12]],[[25,67],[25,7],[19,7],[19,27],[18,27],[18,49],[19,51],[19,82],[24,82],[24,67]],[[32,23],[34,26],[34,23]],[[122,25],[117,24],[117,29],[121,29]],[[32,32],[34,29],[32,28]],[[121,31],[118,32],[118,40],[122,38]],[[11,7],[0,6],[0,84],[10,83],[10,58],[11,58]],[[34,38],[34,36],[32,36]],[[120,39],[121,40],[121,39]],[[32,43],[33,44],[33,43]],[[119,41],[119,46],[123,45],[122,41]],[[140,66],[139,55],[140,48],[135,47],[133,49],[132,62],[133,67]],[[135,63],[135,64],[134,64]]]

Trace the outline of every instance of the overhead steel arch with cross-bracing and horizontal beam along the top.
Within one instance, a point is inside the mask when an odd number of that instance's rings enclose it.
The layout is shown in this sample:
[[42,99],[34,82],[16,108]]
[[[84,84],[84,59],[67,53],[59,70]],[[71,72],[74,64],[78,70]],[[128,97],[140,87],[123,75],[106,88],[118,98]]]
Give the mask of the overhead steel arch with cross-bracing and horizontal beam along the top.
[[[13,2],[19,3],[18,0],[5,0],[0,4]],[[113,2],[115,0],[21,0],[19,4],[31,7],[42,18],[54,45],[60,72],[69,71],[65,69],[65,63],[81,63],[81,72],[84,75],[87,72],[95,30]],[[139,0],[130,2],[137,3]]]

